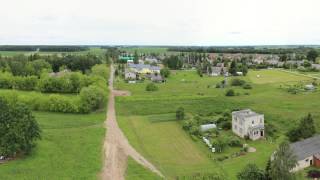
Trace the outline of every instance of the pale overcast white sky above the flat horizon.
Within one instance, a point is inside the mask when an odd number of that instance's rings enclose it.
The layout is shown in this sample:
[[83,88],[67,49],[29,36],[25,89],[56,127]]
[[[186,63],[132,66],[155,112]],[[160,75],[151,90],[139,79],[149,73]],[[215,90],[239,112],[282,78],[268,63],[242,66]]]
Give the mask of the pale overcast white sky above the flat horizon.
[[1,45],[320,45],[319,0],[0,0]]

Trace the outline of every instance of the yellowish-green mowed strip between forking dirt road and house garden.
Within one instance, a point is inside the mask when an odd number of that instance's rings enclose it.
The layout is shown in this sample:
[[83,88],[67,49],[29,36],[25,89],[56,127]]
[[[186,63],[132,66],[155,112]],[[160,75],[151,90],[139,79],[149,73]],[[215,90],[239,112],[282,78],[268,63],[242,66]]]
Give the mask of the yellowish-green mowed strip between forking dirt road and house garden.
[[153,123],[148,116],[118,116],[130,143],[168,177],[219,168],[181,129],[178,122]]

